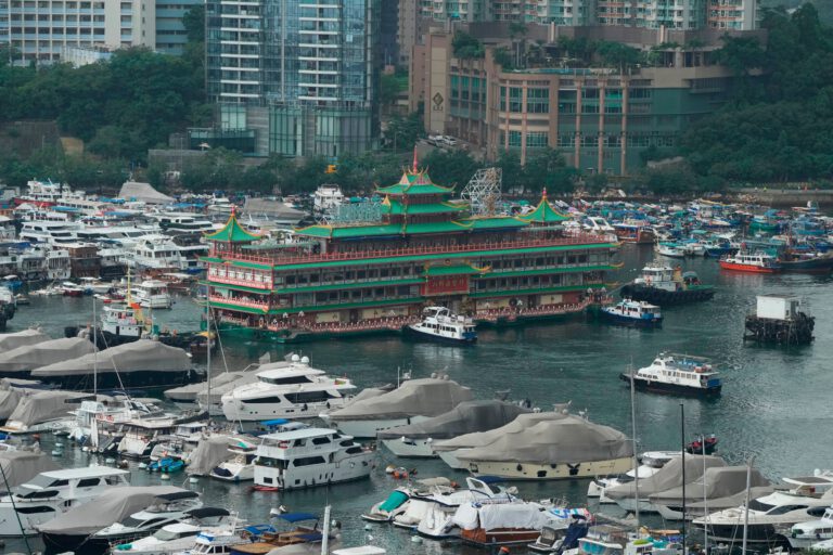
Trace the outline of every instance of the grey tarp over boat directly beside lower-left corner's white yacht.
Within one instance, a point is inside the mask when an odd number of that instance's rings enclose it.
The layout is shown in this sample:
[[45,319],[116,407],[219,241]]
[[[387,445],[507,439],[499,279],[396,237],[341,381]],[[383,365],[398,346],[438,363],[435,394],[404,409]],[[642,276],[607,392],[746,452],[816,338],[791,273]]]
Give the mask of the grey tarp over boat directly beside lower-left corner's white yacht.
[[112,488],[90,503],[71,508],[57,518],[38,526],[37,529],[43,533],[90,535],[146,508],[157,496],[179,491],[187,490],[174,486]]

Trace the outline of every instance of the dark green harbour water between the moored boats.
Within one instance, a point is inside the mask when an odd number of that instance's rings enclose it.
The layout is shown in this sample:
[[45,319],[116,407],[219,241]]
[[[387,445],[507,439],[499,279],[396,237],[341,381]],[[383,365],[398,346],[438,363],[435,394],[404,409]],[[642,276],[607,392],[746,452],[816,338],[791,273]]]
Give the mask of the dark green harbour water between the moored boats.
[[[648,247],[626,245],[619,255],[625,267],[614,274],[619,282],[632,280],[654,258]],[[347,375],[358,386],[397,380],[398,372],[413,377],[448,374],[471,387],[476,397],[491,398],[511,390],[515,400],[529,399],[550,409],[571,401],[572,411],[586,411],[593,422],[630,434],[630,392],[618,377],[629,364],[648,365],[661,351],[710,357],[722,369],[723,392],[717,399],[699,400],[655,393],[637,393],[639,450],[677,449],[681,443],[680,404],[684,405],[685,440],[697,434],[715,434],[720,454],[730,463],[743,464],[755,455],[755,465],[771,480],[830,467],[833,446],[833,288],[830,276],[802,274],[744,274],[720,271],[714,259],[688,259],[685,270],[696,271],[703,283],[718,287],[714,300],[664,310],[662,328],[635,330],[611,326],[584,317],[517,327],[483,330],[474,347],[418,343],[398,336],[329,340],[295,346],[222,341],[222,356],[214,358],[214,372],[225,366],[239,370],[269,351],[272,360],[289,352],[310,357],[311,365],[335,375]],[[804,310],[816,317],[816,340],[800,348],[762,348],[743,341],[745,315],[754,309],[755,296],[764,293],[798,296]],[[200,308],[179,297],[170,311],[157,311],[156,321],[168,328],[193,330]],[[53,337],[68,325],[87,325],[92,319],[92,299],[33,298],[21,307],[9,331],[39,324]],[[43,437],[51,450],[53,438]],[[67,448],[61,464],[84,466],[88,454]],[[101,464],[104,462],[101,461]],[[416,468],[418,477],[453,476],[440,461],[397,460],[380,448],[370,480],[271,493],[251,491],[249,483],[230,485],[201,478],[189,483],[175,475],[171,483],[204,494],[207,505],[238,511],[249,522],[268,520],[269,509],[322,513],[333,506],[333,518],[343,525],[344,543],[373,543],[390,554],[474,553],[453,542],[412,542],[402,530],[374,526],[367,530],[359,515],[383,500],[397,486],[385,475],[388,464]],[[136,469],[133,485],[159,483],[159,475]],[[526,499],[566,498],[574,505],[587,503],[587,480],[517,482]],[[605,511],[610,511],[605,508]],[[37,546],[37,540],[30,540]],[[25,551],[22,541],[7,543],[8,551]],[[513,551],[514,552],[514,551]],[[517,550],[518,553],[525,550]]]

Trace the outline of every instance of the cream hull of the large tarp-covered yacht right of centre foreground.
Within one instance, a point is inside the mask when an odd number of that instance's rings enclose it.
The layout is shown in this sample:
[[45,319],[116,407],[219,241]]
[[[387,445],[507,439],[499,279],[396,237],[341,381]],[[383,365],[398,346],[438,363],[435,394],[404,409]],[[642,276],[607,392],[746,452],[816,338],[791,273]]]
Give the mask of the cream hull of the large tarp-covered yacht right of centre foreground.
[[530,464],[516,462],[475,461],[469,463],[469,469],[475,476],[499,476],[513,480],[563,480],[592,478],[606,474],[620,474],[630,469],[630,457],[567,464]]

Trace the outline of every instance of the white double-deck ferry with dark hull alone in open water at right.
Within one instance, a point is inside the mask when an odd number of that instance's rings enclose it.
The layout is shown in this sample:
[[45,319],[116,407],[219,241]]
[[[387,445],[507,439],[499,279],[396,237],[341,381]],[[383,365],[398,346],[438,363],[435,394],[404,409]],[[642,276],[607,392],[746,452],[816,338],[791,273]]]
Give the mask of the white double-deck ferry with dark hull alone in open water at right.
[[659,353],[650,366],[619,377],[635,389],[661,393],[714,396],[723,387],[708,359],[689,354]]

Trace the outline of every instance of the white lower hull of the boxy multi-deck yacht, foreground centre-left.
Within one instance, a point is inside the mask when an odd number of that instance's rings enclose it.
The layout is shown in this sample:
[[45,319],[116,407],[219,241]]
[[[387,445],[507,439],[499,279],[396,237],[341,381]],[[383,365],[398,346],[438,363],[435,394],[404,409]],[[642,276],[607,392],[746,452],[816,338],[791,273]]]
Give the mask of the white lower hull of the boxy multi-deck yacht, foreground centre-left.
[[286,470],[256,465],[255,486],[285,491],[368,478],[373,456],[373,452],[362,452],[346,456],[336,463],[291,466]]

